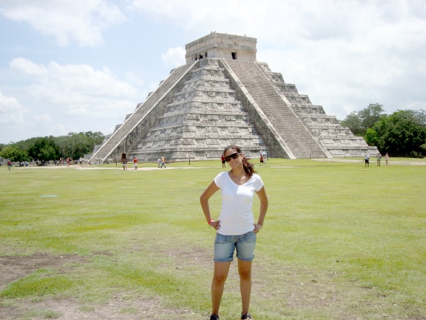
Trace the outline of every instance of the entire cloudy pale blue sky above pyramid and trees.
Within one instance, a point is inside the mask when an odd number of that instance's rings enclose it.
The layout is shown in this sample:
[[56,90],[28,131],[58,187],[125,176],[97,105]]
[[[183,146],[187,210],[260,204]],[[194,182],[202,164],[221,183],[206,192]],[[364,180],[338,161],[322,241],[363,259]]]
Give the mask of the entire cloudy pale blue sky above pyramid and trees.
[[211,31],[339,119],[426,109],[424,0],[0,0],[0,143],[111,133]]

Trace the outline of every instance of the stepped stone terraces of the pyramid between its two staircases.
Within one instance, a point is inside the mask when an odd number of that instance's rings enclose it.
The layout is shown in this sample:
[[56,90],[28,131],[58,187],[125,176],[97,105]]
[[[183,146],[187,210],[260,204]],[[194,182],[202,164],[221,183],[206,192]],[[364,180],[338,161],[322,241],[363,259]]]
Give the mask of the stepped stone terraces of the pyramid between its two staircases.
[[248,158],[267,152],[218,59],[202,59],[189,73],[191,78],[131,154],[140,161],[220,159],[230,144],[240,145]]

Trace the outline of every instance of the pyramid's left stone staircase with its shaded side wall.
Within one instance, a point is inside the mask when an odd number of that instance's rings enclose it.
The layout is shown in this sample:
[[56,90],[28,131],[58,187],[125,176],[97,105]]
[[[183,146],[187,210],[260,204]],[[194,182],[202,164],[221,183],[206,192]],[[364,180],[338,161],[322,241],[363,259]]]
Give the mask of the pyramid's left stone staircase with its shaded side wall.
[[[103,143],[96,152],[94,152],[89,160],[99,160],[103,162],[110,156],[117,158],[122,153],[128,154],[130,150],[137,147],[138,136],[143,135],[142,131],[147,130],[146,126],[148,123],[147,121],[143,123],[142,120],[145,119],[148,113],[159,104],[161,99],[168,94],[170,89],[175,87],[176,83],[179,82],[179,80],[192,68],[194,64],[184,65],[173,69],[168,78],[163,80],[152,94],[149,94],[147,100],[136,107],[133,114],[126,115],[124,123],[119,126],[118,129],[115,129],[110,138],[108,138],[108,140]],[[141,126],[145,126],[145,128],[141,128]]]

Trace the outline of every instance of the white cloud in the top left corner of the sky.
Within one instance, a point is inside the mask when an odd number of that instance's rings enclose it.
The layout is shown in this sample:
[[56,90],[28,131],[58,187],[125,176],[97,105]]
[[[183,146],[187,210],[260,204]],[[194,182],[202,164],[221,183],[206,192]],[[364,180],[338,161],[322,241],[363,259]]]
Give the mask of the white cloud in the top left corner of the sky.
[[0,13],[10,20],[27,22],[41,34],[53,36],[60,46],[75,41],[82,47],[94,47],[103,43],[105,29],[125,20],[119,7],[105,0],[3,1]]

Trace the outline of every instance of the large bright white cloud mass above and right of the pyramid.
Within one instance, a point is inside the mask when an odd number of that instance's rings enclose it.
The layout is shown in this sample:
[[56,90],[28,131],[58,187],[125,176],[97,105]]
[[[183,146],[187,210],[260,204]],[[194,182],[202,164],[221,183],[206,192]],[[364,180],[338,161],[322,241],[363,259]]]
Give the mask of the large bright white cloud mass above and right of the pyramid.
[[259,61],[341,119],[369,103],[393,112],[412,106],[410,96],[425,99],[416,89],[426,82],[425,1],[218,0],[226,10],[216,11],[196,0],[131,3],[184,29],[189,41],[210,31],[257,38]]

